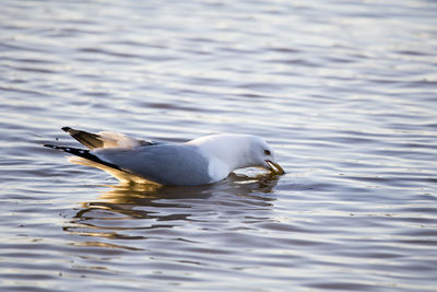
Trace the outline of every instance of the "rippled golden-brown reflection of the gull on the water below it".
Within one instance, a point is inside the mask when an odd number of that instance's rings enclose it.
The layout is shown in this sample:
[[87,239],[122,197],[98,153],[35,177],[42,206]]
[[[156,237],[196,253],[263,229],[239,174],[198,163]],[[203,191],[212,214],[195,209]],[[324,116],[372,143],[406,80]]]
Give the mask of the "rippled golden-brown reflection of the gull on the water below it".
[[[269,211],[274,197],[269,196],[277,176],[233,174],[220,183],[193,187],[157,185],[105,185],[98,200],[81,203],[81,208],[63,231],[80,236],[111,240],[145,240],[144,230],[173,229],[204,214],[221,213],[226,208],[255,217],[253,208]],[[193,219],[194,218],[194,219]],[[146,220],[146,221],[144,221]],[[81,242],[81,245],[130,249],[130,246]]]

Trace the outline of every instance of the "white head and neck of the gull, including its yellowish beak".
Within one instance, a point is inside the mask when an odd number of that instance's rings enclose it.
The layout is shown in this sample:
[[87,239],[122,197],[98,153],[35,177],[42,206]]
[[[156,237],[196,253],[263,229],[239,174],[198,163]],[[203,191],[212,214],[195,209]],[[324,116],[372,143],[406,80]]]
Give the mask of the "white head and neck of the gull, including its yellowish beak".
[[188,142],[198,145],[203,153],[214,160],[210,170],[214,176],[227,176],[232,171],[256,166],[284,174],[275,162],[273,149],[260,137],[252,135],[211,135]]

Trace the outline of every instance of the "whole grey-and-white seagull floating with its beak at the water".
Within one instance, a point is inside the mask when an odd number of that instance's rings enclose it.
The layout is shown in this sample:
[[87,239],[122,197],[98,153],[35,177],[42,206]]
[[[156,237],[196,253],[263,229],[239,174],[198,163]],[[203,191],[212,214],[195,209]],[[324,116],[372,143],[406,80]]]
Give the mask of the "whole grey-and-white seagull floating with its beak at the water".
[[63,127],[88,149],[44,144],[73,154],[71,162],[107,172],[122,183],[196,186],[224,179],[237,168],[284,174],[273,149],[252,135],[209,135],[185,143],[134,139],[114,131],[91,133]]

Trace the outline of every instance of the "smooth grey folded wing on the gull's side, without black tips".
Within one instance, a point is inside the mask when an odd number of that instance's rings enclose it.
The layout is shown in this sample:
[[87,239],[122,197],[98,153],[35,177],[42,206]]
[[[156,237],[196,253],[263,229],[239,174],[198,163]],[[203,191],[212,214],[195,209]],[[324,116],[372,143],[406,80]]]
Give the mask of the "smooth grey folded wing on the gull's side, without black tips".
[[211,183],[209,161],[194,145],[164,143],[135,149],[99,149],[93,153],[121,170],[158,184]]

